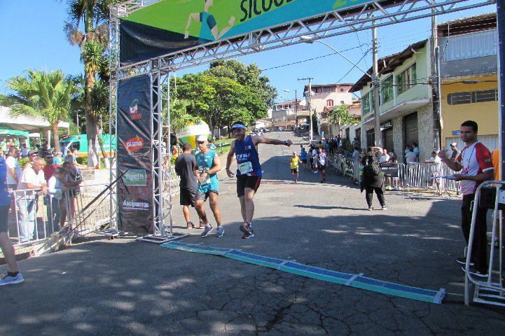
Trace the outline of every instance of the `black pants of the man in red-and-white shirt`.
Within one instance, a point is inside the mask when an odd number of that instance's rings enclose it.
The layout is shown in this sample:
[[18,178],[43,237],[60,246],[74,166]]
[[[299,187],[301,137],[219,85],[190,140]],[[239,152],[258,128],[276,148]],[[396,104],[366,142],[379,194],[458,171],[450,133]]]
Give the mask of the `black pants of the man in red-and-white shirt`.
[[[463,230],[464,239],[468,244],[470,237],[471,226],[471,202],[475,199],[475,194],[464,195],[461,205],[461,228]],[[478,271],[487,273],[487,224],[486,217],[487,209],[478,208],[475,221],[475,230],[473,233],[473,243],[471,248],[471,260],[475,263]]]

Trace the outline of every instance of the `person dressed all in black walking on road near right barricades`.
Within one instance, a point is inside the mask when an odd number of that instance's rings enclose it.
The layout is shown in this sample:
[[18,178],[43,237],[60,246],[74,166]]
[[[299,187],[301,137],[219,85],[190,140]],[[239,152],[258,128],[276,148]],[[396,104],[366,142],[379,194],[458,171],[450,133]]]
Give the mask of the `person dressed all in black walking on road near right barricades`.
[[361,192],[365,190],[368,210],[373,210],[372,199],[374,191],[382,210],[387,210],[383,190],[384,179],[382,178],[379,165],[381,153],[382,148],[380,147],[368,147],[366,155],[361,160],[361,163],[364,165],[363,176],[361,177]]

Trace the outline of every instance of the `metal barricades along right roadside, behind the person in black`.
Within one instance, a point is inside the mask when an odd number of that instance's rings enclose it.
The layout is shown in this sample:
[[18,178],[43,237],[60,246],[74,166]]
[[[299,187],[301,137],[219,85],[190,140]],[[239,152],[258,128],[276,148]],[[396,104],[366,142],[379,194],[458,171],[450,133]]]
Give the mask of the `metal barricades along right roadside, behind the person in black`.
[[[343,174],[359,183],[363,173],[363,165],[360,161],[344,158],[343,155],[336,155],[333,160],[333,167],[337,172]],[[450,179],[436,179],[436,176],[447,176],[456,174],[445,164],[417,163],[382,163],[382,176],[385,178],[385,187],[389,190],[434,190],[438,195],[442,193],[459,193],[459,182]]]

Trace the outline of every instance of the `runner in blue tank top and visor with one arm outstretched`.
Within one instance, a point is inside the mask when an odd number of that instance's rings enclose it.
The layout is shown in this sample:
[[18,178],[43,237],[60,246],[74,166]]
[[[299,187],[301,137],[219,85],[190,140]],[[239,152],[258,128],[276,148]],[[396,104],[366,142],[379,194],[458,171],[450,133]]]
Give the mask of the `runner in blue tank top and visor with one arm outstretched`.
[[244,123],[235,123],[232,126],[232,134],[236,140],[230,145],[230,152],[226,159],[226,174],[233,177],[235,174],[230,170],[233,155],[237,159],[237,197],[240,200],[240,211],[244,223],[240,225],[240,231],[244,232],[242,239],[254,237],[251,222],[254,216],[253,197],[261,182],[261,165],[258,157],[258,144],[291,146],[291,140],[276,140],[254,135],[246,136]]

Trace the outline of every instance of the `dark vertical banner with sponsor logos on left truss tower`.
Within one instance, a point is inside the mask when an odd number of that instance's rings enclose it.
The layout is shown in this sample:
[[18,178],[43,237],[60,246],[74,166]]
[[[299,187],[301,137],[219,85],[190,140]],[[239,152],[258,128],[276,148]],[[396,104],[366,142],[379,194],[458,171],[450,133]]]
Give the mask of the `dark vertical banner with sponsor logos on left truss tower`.
[[119,228],[137,235],[152,233],[151,78],[142,75],[118,83]]

